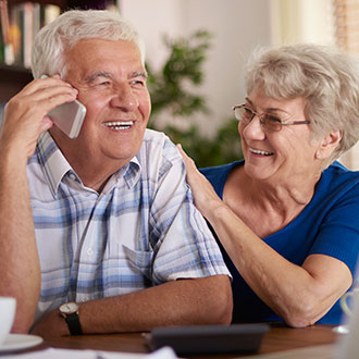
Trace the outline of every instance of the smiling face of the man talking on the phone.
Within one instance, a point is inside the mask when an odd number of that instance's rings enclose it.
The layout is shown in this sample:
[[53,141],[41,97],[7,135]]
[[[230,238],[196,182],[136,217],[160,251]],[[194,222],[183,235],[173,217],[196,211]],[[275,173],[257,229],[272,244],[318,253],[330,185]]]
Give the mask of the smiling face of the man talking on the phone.
[[150,114],[146,70],[134,42],[84,39],[66,54],[65,81],[87,109],[79,136],[51,134],[69,162],[119,169],[139,150]]

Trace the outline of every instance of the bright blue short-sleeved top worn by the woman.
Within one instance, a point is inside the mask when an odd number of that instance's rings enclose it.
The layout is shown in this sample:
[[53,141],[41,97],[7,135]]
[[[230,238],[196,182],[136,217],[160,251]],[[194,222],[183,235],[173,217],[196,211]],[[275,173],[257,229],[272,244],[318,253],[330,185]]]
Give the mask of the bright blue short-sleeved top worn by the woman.
[[[223,198],[227,176],[239,165],[244,165],[244,160],[200,171],[211,182],[216,194]],[[359,253],[359,172],[349,171],[341,163],[334,162],[322,173],[313,198],[301,213],[284,228],[263,240],[298,265],[301,265],[311,253],[337,258],[347,264],[355,277]],[[219,239],[218,242],[220,244]],[[233,322],[283,320],[257,297],[221,244],[220,247],[233,275]],[[339,324],[342,314],[338,300],[318,323]]]

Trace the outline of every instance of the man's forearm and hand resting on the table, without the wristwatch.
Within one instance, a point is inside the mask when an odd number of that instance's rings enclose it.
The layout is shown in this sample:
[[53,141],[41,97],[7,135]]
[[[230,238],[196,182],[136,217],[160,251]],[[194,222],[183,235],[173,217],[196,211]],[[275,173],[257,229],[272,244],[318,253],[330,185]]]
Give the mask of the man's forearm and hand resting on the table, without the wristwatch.
[[[168,282],[148,289],[79,305],[84,334],[150,331],[156,326],[228,324],[232,290],[226,275]],[[34,329],[41,336],[69,335],[58,311]]]

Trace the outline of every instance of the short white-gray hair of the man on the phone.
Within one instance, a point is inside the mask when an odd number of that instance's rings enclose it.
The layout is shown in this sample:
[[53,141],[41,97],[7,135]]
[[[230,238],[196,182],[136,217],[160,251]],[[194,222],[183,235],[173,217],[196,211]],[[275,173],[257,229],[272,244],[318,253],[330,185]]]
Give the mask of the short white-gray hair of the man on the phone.
[[77,41],[88,38],[134,42],[145,63],[145,45],[133,25],[119,13],[107,10],[70,10],[42,27],[32,49],[34,78],[66,72],[64,54]]

